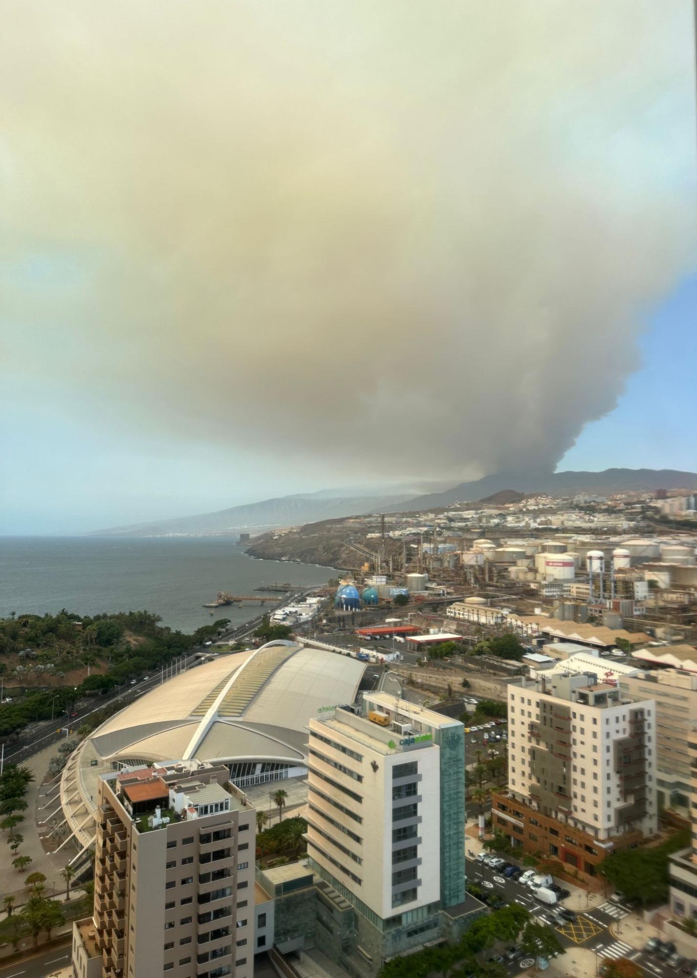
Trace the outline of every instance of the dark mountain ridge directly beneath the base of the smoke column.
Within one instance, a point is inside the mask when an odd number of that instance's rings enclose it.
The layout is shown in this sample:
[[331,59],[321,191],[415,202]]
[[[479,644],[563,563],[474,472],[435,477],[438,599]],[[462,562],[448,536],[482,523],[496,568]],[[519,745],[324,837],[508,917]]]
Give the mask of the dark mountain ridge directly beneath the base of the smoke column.
[[548,496],[575,496],[587,492],[608,495],[654,489],[697,489],[697,472],[674,468],[606,468],[602,472],[497,472],[473,482],[460,482],[444,492],[416,496],[390,507],[389,512],[435,510],[453,503],[474,503],[505,489]]

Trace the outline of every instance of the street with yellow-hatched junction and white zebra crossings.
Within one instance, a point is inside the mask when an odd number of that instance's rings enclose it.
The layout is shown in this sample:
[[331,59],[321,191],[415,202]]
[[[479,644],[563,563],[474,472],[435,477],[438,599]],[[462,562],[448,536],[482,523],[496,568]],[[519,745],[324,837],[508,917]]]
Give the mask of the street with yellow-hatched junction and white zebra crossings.
[[[603,958],[628,957],[651,978],[674,978],[674,972],[664,961],[622,940],[622,920],[631,912],[622,904],[607,900],[600,907],[589,909],[583,906],[587,903],[587,897],[580,891],[579,896],[574,895],[559,905],[576,913],[576,918],[562,927],[550,916],[548,909],[534,899],[527,886],[501,876],[476,860],[467,859],[465,863],[468,879],[500,895],[507,903],[520,904],[540,922],[553,927],[562,947],[571,949],[576,946],[592,951],[598,957],[598,963]],[[614,925],[615,933],[610,931],[611,925]],[[506,969],[510,975],[516,975],[526,970],[525,963],[524,958],[518,958]]]

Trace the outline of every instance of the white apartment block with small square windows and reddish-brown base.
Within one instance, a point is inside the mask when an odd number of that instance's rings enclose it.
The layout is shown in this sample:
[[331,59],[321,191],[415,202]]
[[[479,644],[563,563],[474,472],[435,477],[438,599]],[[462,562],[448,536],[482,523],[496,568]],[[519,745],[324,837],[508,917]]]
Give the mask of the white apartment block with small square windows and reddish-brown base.
[[657,831],[656,705],[594,673],[508,687],[508,792],[494,826],[531,852],[592,874]]

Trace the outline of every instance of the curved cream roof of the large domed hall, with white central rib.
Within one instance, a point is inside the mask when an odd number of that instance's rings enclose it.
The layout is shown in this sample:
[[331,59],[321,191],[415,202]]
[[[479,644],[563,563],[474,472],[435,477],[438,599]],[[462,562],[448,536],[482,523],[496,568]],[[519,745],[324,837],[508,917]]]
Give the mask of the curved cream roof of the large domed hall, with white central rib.
[[278,760],[302,763],[307,723],[350,703],[365,666],[290,642],[220,656],[117,713],[90,740],[105,761]]

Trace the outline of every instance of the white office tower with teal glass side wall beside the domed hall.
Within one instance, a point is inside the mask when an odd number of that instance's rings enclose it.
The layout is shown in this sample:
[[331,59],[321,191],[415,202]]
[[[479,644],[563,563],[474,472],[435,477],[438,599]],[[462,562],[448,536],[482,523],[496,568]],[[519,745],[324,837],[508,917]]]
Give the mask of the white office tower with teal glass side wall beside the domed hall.
[[354,911],[353,936],[325,953],[375,973],[438,939],[441,911],[466,900],[462,724],[366,693],[360,714],[310,720],[307,786],[309,865],[327,906]]

